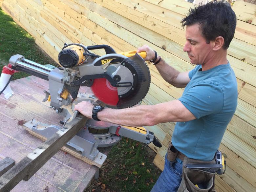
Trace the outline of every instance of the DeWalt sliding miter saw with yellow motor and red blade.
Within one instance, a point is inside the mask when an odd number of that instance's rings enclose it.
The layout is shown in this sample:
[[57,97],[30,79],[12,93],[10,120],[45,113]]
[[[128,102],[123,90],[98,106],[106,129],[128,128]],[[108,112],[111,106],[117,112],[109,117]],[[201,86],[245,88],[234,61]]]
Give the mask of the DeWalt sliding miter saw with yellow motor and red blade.
[[[106,54],[99,56],[89,51],[96,49],[104,49]],[[60,123],[65,125],[76,116],[73,109],[81,101],[103,103],[106,107],[114,109],[139,104],[150,86],[150,72],[143,59],[145,56],[145,52],[138,54],[136,51],[116,53],[108,45],[86,47],[75,43],[64,44],[58,54],[60,67],[57,68],[38,64],[17,54],[10,58],[9,65],[3,69],[0,90],[6,98],[13,94],[8,83],[11,80],[9,74],[14,70],[48,80],[49,90],[44,91],[43,102],[50,102],[50,108],[64,117]],[[5,85],[3,82],[6,82]],[[91,88],[93,94],[81,93],[80,86]],[[50,138],[62,128],[36,120],[26,126],[46,138]],[[82,156],[94,160],[99,152],[98,147],[111,146],[121,139],[120,136],[146,144],[153,142],[157,147],[161,147],[154,133],[144,127],[125,127],[94,119],[89,119],[85,127],[67,145],[75,148]]]

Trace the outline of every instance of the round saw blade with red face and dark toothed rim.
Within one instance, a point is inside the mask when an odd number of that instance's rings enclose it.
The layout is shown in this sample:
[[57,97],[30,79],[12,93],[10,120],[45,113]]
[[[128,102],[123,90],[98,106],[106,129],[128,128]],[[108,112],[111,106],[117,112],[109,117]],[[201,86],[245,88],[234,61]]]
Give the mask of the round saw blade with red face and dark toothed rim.
[[150,87],[150,71],[139,54],[123,59],[122,63],[136,73],[133,77],[133,89],[131,88],[125,96],[118,95],[118,88],[112,86],[106,78],[94,79],[91,87],[94,95],[110,108],[123,109],[138,104],[146,96]]

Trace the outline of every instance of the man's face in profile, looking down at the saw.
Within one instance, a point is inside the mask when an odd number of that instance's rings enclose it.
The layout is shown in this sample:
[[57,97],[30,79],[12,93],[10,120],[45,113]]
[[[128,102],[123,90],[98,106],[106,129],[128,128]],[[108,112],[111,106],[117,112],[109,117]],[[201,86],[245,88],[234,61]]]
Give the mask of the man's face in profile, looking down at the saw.
[[187,52],[192,64],[205,64],[213,55],[214,42],[206,43],[202,36],[199,25],[194,24],[186,27],[186,43],[183,51]]

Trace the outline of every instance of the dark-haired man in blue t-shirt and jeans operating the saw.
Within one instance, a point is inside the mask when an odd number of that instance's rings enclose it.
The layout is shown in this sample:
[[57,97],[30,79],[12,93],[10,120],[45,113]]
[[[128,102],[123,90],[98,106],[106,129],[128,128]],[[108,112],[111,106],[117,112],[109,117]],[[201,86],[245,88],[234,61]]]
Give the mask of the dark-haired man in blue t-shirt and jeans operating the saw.
[[[147,53],[145,60],[154,60],[165,81],[185,87],[181,98],[151,106],[103,109],[97,118],[128,126],[177,121],[172,144],[179,151],[178,157],[210,161],[237,106],[236,77],[226,56],[235,32],[236,16],[226,1],[212,1],[192,8],[182,20],[182,26],[186,26],[183,51],[197,65],[192,71],[178,72],[147,45],[137,50]],[[89,102],[81,102],[75,110],[92,118],[93,107]],[[164,170],[152,191],[177,191],[181,175],[182,159],[170,161],[166,155]]]

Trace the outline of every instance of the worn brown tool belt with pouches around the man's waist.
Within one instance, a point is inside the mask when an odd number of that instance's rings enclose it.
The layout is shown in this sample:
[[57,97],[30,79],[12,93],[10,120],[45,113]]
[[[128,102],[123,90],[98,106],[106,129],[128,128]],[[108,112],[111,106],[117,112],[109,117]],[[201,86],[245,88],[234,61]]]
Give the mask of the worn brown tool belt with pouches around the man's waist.
[[[183,161],[182,180],[177,192],[216,192],[214,189],[215,173],[186,167],[187,164],[215,164],[215,158],[211,161],[190,159],[179,152],[171,143],[168,147],[167,159],[174,161],[176,158]],[[199,188],[198,184],[203,185],[205,189]]]

